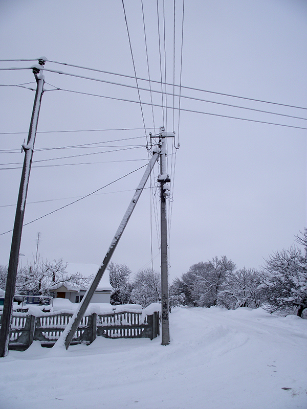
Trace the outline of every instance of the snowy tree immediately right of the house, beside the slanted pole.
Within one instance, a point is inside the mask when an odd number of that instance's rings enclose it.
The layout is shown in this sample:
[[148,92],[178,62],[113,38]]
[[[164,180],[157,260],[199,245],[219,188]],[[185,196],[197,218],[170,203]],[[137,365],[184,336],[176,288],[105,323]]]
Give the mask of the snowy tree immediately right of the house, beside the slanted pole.
[[109,263],[107,269],[109,270],[110,284],[113,288],[111,304],[129,304],[132,291],[132,285],[129,282],[131,270],[125,264],[115,264],[113,262]]

